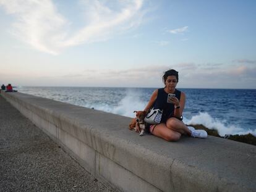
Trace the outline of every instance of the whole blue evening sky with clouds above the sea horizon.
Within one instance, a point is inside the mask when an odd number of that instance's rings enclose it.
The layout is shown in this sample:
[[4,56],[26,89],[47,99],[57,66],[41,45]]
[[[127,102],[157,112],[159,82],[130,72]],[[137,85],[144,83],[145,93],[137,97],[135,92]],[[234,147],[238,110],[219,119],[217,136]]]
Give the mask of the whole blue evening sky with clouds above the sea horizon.
[[256,89],[256,1],[0,0],[0,84]]

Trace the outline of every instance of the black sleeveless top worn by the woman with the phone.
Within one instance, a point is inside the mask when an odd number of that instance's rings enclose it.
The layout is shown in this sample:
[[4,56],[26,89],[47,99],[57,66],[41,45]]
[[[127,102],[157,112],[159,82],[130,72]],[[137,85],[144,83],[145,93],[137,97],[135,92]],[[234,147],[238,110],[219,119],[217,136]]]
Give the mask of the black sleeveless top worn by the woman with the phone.
[[[174,94],[177,99],[181,99],[181,91],[175,90]],[[165,123],[174,114],[174,104],[167,102],[168,93],[164,91],[164,88],[158,89],[156,100],[153,104],[154,109],[163,109],[163,115],[161,123]]]

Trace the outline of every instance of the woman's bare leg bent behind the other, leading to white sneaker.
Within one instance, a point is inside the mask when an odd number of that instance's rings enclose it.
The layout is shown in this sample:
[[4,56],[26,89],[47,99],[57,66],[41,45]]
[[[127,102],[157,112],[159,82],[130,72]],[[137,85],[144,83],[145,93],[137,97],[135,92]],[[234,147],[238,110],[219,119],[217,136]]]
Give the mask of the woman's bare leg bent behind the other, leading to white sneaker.
[[176,119],[175,117],[171,117],[167,120],[166,127],[181,134],[187,134],[191,136],[191,131],[189,128],[187,128],[187,126],[181,120]]

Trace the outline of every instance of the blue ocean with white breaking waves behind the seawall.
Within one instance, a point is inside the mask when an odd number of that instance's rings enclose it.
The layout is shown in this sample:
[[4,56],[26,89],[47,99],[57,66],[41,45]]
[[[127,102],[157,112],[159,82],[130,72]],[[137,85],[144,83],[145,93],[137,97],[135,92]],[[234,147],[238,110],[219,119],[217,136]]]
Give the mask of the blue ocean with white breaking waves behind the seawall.
[[[155,88],[39,87],[18,86],[32,94],[77,106],[134,117],[143,110]],[[178,88],[179,89],[179,88]],[[190,89],[186,93],[184,123],[202,124],[218,130],[221,136],[256,136],[256,90]]]

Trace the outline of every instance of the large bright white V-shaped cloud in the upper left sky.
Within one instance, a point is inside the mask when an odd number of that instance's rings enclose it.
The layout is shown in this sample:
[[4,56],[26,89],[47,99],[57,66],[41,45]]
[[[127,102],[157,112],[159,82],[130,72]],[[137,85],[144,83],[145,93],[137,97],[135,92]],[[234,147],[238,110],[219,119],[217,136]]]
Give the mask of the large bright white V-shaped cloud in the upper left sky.
[[15,15],[12,33],[33,48],[50,54],[58,54],[62,49],[78,44],[104,41],[114,34],[137,27],[145,12],[143,0],[87,1],[84,27],[70,32],[72,22],[59,14],[52,0],[0,0],[7,14]]

